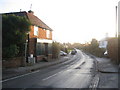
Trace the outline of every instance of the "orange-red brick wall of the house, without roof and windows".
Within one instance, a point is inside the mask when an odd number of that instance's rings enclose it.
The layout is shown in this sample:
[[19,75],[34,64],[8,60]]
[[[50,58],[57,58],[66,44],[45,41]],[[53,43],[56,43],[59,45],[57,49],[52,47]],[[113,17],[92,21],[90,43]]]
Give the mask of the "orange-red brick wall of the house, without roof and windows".
[[[50,31],[50,37],[47,38],[47,35],[46,35],[47,31],[42,29],[42,28],[38,28],[38,35],[34,35],[34,26],[31,26],[31,31],[29,33],[29,44],[28,44],[28,54],[33,54],[35,57],[36,57],[36,62],[39,62],[41,61],[44,57],[46,57],[43,53],[40,54],[40,55],[37,55],[37,38],[42,40],[52,40],[52,31]],[[39,42],[41,43],[41,42]],[[44,44],[44,42],[42,43]],[[45,48],[45,47],[43,47]],[[43,52],[42,49],[39,50],[39,52]],[[50,58],[52,57],[51,54],[48,54],[48,59],[50,60]]]

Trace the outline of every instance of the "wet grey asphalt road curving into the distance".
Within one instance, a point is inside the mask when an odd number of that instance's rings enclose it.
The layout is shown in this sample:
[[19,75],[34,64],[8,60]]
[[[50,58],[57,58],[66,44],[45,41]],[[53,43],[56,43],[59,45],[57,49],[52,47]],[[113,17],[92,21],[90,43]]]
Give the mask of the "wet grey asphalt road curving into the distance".
[[88,88],[94,60],[80,50],[71,63],[61,63],[2,82],[3,88]]

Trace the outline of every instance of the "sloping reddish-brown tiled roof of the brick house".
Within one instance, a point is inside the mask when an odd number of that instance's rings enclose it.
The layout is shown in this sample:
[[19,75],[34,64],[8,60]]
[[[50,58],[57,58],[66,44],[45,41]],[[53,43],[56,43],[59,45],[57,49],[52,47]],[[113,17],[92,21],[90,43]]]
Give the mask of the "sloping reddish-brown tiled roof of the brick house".
[[50,27],[48,27],[42,20],[40,20],[37,16],[35,16],[32,13],[23,11],[23,12],[11,12],[11,13],[5,13],[5,14],[15,14],[18,16],[25,16],[30,20],[32,25],[36,25],[36,26],[41,27],[43,29],[47,29],[47,30],[52,31],[52,29]]

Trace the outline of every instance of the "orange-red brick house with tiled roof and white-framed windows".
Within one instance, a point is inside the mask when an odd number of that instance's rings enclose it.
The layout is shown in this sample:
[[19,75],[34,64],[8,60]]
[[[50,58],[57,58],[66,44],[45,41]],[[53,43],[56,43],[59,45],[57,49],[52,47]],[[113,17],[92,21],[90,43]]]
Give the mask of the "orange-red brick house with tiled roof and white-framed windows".
[[33,11],[12,12],[6,14],[14,14],[24,16],[30,22],[30,32],[28,33],[26,57],[33,55],[36,62],[47,58],[52,58],[52,29],[43,21],[34,15]]

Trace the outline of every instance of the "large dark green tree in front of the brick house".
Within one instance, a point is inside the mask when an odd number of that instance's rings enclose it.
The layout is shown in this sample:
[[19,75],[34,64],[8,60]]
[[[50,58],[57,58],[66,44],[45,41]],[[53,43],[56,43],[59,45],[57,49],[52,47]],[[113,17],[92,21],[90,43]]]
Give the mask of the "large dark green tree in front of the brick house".
[[22,55],[27,32],[30,31],[27,18],[15,15],[2,16],[2,57]]

